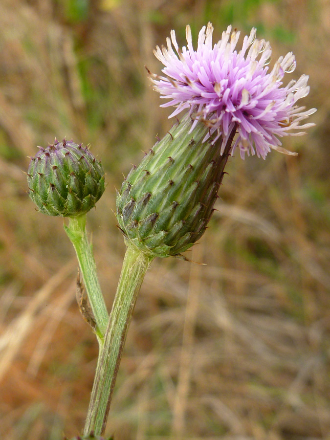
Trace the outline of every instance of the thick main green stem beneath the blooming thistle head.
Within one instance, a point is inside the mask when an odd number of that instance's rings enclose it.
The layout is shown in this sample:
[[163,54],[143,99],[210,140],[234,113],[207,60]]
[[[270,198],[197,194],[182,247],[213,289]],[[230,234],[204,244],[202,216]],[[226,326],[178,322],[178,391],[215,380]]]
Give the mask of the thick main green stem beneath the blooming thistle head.
[[104,346],[98,359],[84,435],[104,433],[114,384],[133,308],[144,275],[154,257],[127,244]]

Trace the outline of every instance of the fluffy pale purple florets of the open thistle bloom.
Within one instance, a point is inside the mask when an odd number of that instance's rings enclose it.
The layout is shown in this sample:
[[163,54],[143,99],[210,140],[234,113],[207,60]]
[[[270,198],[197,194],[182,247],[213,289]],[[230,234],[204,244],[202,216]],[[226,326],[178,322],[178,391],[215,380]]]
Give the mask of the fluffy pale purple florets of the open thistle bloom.
[[[169,117],[188,109],[195,119],[193,128],[198,121],[209,128],[204,141],[215,132],[214,141],[221,136],[222,151],[236,128],[231,153],[238,147],[242,158],[250,152],[265,158],[271,149],[295,155],[281,147],[279,137],[304,134],[301,129],[314,124],[300,123],[316,109],[305,110],[296,105],[308,95],[307,75],[282,87],[284,74],[293,72],[296,66],[292,52],[280,57],[268,72],[270,44],[256,40],[255,28],[249,37],[244,37],[240,52],[235,50],[240,32],[231,32],[228,26],[214,45],[212,33],[209,22],[207,28],[203,26],[200,30],[194,50],[188,25],[187,47],[178,47],[174,30],[171,39],[167,38],[167,47],[156,46],[154,55],[165,66],[162,72],[166,76],[151,74],[151,79],[161,98],[170,99],[161,107],[176,107]],[[298,131],[292,133],[293,130]]]

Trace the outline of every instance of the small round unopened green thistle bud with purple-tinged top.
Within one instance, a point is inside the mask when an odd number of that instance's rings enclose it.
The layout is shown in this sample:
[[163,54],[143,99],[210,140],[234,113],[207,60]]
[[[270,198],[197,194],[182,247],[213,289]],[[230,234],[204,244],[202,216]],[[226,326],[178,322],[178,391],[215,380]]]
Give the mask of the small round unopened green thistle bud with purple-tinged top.
[[87,213],[104,192],[104,171],[88,148],[74,142],[39,147],[27,172],[29,196],[49,216]]

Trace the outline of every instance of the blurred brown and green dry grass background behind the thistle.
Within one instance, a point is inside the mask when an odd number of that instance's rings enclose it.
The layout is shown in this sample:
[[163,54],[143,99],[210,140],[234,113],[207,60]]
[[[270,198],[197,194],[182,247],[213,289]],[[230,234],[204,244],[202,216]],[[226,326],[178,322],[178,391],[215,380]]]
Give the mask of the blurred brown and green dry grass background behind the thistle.
[[[75,303],[63,220],[28,198],[28,155],[90,143],[107,189],[88,214],[111,307],[125,246],[115,188],[171,127],[145,65],[176,29],[208,21],[293,51],[317,107],[298,157],[230,159],[190,264],[156,259],[143,283],[107,432],[115,440],[330,439],[330,1],[1,0],[0,439],[59,440],[84,425],[97,342]],[[241,40],[242,41],[242,40]],[[240,45],[240,43],[239,43]]]

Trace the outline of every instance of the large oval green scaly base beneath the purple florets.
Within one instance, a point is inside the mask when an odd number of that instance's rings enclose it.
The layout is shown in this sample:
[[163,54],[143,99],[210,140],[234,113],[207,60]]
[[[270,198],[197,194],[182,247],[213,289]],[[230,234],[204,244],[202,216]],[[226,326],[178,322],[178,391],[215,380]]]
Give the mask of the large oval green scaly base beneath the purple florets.
[[157,257],[180,256],[205,232],[235,134],[220,154],[208,128],[186,115],[133,167],[117,194],[126,240]]

